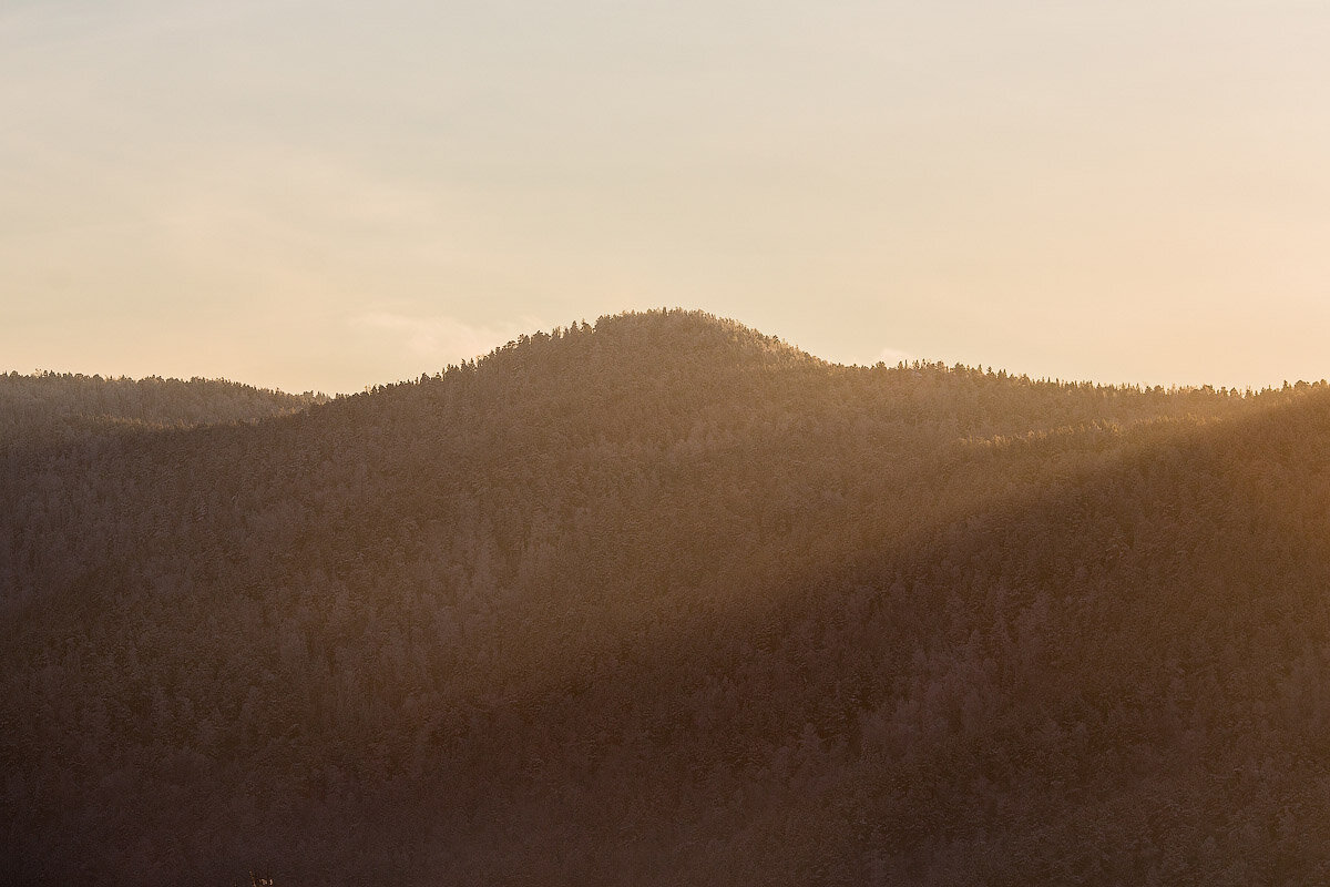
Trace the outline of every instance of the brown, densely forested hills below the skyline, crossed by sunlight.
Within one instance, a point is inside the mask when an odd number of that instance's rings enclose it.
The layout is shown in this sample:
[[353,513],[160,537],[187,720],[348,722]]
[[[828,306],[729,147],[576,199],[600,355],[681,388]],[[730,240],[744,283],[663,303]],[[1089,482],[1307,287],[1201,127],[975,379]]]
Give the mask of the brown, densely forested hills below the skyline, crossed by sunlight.
[[1330,882],[1323,382],[658,311],[0,444],[5,883]]

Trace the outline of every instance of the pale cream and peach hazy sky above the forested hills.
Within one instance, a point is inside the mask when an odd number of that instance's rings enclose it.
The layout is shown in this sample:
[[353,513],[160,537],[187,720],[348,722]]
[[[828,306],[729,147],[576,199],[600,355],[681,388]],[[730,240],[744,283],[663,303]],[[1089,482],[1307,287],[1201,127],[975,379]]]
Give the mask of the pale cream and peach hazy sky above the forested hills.
[[1330,376],[1321,0],[0,0],[0,370],[360,391],[704,309]]

